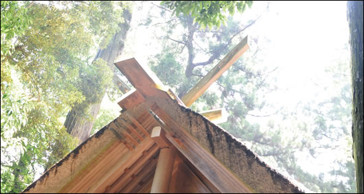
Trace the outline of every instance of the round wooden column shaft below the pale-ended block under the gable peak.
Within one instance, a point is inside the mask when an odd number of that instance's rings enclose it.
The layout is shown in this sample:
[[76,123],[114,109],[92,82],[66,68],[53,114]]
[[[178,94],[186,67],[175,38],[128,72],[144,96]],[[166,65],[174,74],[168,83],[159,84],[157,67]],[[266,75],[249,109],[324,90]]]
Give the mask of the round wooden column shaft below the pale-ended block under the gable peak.
[[168,193],[175,155],[174,147],[161,149],[150,193]]

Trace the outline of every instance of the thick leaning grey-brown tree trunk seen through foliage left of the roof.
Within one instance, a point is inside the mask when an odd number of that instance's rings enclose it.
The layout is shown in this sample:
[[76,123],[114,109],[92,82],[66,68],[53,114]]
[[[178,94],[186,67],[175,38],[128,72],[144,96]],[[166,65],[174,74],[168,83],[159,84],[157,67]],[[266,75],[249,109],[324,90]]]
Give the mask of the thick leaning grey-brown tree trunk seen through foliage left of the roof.
[[[109,45],[105,49],[100,49],[98,54],[95,56],[95,60],[98,58],[102,58],[105,60],[110,67],[111,71],[115,71],[114,60],[117,55],[120,54],[122,49],[124,48],[124,42],[126,38],[126,33],[130,27],[130,19],[131,13],[124,9],[124,23],[121,23],[120,32],[117,32]],[[114,74],[113,83],[117,85],[117,88],[120,88],[123,93],[128,91],[128,87],[118,79],[118,77]],[[106,88],[105,88],[106,91]],[[91,119],[87,119],[85,115],[77,114],[77,107],[74,106],[72,110],[67,114],[67,118],[65,121],[65,128],[67,128],[67,132],[74,137],[77,137],[80,141],[79,143],[84,142],[87,138],[89,138],[91,130],[93,128],[93,123],[95,122],[96,116],[98,115],[98,111],[100,110],[100,104],[102,99],[99,99],[97,104],[92,104],[88,110],[88,114],[91,115]]]

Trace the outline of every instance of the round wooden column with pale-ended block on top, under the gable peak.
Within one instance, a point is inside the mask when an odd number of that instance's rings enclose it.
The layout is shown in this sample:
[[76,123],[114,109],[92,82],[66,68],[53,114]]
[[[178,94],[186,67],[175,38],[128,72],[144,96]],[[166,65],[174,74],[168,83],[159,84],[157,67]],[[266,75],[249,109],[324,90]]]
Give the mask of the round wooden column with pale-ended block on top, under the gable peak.
[[[157,169],[155,169],[155,177],[150,193],[168,193],[176,149],[169,146],[168,143],[163,142],[163,139],[166,138],[161,127],[155,127],[153,129],[152,139],[161,147],[161,151],[159,152]],[[161,142],[163,143],[161,144]]]

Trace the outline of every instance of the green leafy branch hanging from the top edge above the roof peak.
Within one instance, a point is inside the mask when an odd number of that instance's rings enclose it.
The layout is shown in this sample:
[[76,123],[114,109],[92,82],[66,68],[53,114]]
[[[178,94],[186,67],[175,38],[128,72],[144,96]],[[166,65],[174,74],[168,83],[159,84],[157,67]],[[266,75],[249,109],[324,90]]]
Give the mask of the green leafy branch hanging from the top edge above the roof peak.
[[253,1],[161,1],[161,5],[173,10],[178,17],[179,14],[190,15],[201,27],[220,27],[226,25],[228,11],[232,16],[235,10],[242,13],[247,8],[251,8]]

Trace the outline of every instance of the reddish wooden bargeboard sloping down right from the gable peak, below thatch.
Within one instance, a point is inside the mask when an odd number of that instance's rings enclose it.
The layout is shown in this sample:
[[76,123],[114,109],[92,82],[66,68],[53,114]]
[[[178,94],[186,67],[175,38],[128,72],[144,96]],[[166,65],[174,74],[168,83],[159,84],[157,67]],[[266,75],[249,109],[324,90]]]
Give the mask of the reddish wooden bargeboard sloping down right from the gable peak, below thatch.
[[[229,171],[218,161],[214,155],[209,153],[188,132],[183,130],[166,112],[156,110],[157,116],[164,121],[160,123],[162,128],[168,128],[174,134],[166,133],[166,138],[176,147],[192,165],[210,181],[221,193],[253,193],[247,185],[239,180],[234,173]],[[213,171],[211,169],[214,169]]]

